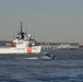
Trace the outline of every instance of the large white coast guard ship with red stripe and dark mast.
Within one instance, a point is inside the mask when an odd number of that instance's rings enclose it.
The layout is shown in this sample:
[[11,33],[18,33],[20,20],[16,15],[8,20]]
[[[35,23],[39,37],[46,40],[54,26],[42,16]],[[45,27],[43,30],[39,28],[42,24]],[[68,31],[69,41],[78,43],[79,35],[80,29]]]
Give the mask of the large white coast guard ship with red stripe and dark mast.
[[9,47],[0,47],[0,54],[32,54],[32,52],[40,52],[42,46],[35,39],[32,39],[32,35],[28,34],[26,37],[26,33],[23,31],[22,22],[21,22],[21,31],[17,33],[19,37],[16,37]]

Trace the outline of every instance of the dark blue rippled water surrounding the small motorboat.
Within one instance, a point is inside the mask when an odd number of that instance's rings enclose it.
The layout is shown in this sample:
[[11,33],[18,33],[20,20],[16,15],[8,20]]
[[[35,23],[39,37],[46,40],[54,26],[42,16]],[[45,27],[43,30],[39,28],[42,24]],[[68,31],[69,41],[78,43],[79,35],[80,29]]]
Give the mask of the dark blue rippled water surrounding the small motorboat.
[[83,82],[83,50],[45,51],[55,54],[56,58],[0,55],[0,82]]

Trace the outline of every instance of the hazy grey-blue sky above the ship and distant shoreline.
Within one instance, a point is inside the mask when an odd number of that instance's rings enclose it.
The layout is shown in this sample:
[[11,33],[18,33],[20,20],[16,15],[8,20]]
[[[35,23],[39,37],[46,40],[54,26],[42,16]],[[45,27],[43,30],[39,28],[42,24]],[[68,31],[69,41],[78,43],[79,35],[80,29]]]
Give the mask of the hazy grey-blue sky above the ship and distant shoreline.
[[21,22],[45,43],[83,43],[83,0],[0,0],[0,40],[16,37]]

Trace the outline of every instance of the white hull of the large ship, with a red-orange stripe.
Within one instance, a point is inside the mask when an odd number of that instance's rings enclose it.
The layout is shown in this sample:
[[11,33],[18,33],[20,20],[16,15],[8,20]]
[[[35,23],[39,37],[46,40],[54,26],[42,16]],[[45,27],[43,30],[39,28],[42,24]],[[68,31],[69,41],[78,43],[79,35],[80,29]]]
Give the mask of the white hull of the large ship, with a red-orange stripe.
[[42,46],[33,46],[27,48],[5,47],[0,48],[0,54],[37,54],[40,52]]

